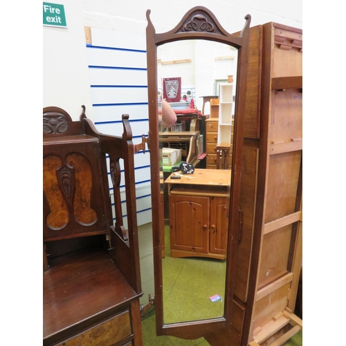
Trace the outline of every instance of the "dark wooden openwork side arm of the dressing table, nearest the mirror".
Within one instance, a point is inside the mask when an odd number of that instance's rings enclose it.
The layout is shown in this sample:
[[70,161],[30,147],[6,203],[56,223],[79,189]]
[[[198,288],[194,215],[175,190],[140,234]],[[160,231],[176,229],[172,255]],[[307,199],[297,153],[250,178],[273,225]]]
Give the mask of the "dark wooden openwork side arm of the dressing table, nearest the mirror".
[[[93,122],[86,118],[84,112],[80,116],[80,120],[84,120],[84,131],[90,136],[98,137],[100,141],[100,150],[103,155],[103,172],[107,175],[106,156],[109,156],[109,170],[111,176],[111,183],[113,185],[113,197],[114,197],[114,209],[116,216],[116,224],[113,224],[113,215],[111,211],[111,203],[109,203],[109,255],[113,262],[120,269],[122,275],[124,275],[134,287],[137,293],[140,292],[140,273],[133,275],[130,268],[139,268],[139,263],[125,262],[124,258],[130,258],[134,261],[133,255],[134,248],[138,246],[138,238],[134,236],[137,233],[137,208],[136,208],[136,187],[134,176],[134,154],[139,151],[132,142],[132,130],[129,124],[129,114],[122,114],[123,133],[122,137],[104,135],[98,132],[93,125]],[[144,135],[143,135],[144,136]],[[145,144],[145,143],[143,143]],[[143,148],[144,151],[145,147]],[[120,159],[124,164],[124,176],[125,182],[120,181]],[[104,179],[104,189],[107,190],[106,195],[109,195],[108,176]],[[127,228],[130,230],[128,233],[125,230],[125,226],[122,219],[121,197],[120,197],[120,185],[125,185],[126,194],[126,210],[127,210]],[[110,199],[110,197],[109,197]]]

